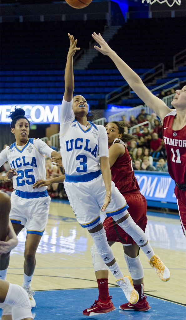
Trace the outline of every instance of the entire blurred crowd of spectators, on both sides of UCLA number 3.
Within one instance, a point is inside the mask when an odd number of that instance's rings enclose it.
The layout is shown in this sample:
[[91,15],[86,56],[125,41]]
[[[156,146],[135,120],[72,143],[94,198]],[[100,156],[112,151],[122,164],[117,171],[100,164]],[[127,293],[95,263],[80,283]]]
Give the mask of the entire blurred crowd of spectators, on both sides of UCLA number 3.
[[[162,171],[167,170],[167,155],[162,139],[162,125],[158,120],[155,113],[149,115],[145,112],[145,109],[141,109],[139,115],[135,118],[133,115],[127,121],[125,116],[122,116],[122,121],[125,122],[125,132],[129,133],[129,129],[132,128],[132,134],[134,140],[127,144],[127,149],[133,161],[134,170],[147,170],[147,171]],[[144,122],[149,121],[149,124],[143,125]],[[138,125],[137,127],[135,127]],[[134,128],[133,128],[134,127]],[[52,146],[50,140],[47,144],[57,150],[55,146]],[[4,145],[3,148],[6,148]],[[1,174],[5,175],[10,170],[10,165],[5,162],[0,168]],[[49,159],[46,159],[46,179],[56,177],[64,173],[63,168],[59,168],[53,165]],[[0,189],[11,194],[13,191],[12,181],[1,182]],[[48,187],[49,195],[53,198],[67,199],[63,183],[52,184]]]

